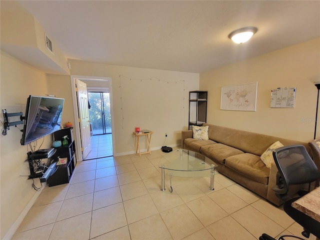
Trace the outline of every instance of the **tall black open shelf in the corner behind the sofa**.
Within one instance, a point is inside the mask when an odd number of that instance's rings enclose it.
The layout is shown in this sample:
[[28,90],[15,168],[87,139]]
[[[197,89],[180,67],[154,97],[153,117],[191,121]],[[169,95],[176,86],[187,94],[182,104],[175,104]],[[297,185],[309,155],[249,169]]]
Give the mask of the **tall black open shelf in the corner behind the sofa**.
[[207,91],[189,91],[189,129],[206,122]]

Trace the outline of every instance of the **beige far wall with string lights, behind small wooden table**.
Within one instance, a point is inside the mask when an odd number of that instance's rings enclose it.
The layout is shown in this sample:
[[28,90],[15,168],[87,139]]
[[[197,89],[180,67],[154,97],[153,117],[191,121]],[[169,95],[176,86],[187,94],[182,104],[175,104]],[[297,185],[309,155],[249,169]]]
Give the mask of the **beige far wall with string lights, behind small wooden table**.
[[[136,126],[154,132],[153,149],[159,149],[163,144],[180,144],[180,131],[188,121],[188,92],[198,89],[198,73],[76,60],[70,60],[70,63],[72,75],[111,77],[114,155],[135,151],[132,132]],[[166,140],[165,132],[168,134]],[[143,138],[140,146],[145,148]]]

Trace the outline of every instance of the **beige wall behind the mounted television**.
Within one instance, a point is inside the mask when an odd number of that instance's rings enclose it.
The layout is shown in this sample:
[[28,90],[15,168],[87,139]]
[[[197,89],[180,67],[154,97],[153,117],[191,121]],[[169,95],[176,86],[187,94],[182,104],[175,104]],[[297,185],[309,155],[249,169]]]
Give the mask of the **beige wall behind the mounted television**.
[[[22,111],[24,115],[29,94],[48,94],[44,72],[26,65],[3,51],[1,51],[0,79],[0,108],[6,109],[7,112]],[[3,116],[1,116],[2,120]],[[24,161],[26,152],[30,149],[26,145],[20,145],[22,132],[19,129],[22,128],[22,124],[17,127],[10,126],[7,135],[0,135],[1,239],[36,193],[31,187],[32,180],[27,179],[28,164]],[[41,140],[37,142],[39,146]],[[41,147],[47,148],[50,145],[51,137],[44,137]],[[34,183],[40,187],[38,178],[34,179]]]

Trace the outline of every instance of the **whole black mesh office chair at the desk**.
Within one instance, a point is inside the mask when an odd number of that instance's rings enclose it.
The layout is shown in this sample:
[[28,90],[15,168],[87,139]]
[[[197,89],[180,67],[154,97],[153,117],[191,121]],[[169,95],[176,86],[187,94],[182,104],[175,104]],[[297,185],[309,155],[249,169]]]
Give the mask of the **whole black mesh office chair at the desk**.
[[[284,201],[284,211],[303,227],[304,231],[302,231],[301,234],[308,238],[309,233],[312,233],[320,238],[320,223],[291,206],[293,201],[310,190],[310,183],[320,177],[319,170],[303,145],[280,147],[273,150],[272,154],[278,168],[276,186],[274,186],[272,190],[277,197]],[[305,183],[309,183],[308,191],[293,192],[299,195],[297,197],[289,195],[290,187]],[[284,236],[289,235],[281,235],[277,239],[284,239]],[[290,237],[303,239],[293,235],[290,235]],[[271,239],[273,240],[274,238],[265,233],[259,238],[259,240]]]

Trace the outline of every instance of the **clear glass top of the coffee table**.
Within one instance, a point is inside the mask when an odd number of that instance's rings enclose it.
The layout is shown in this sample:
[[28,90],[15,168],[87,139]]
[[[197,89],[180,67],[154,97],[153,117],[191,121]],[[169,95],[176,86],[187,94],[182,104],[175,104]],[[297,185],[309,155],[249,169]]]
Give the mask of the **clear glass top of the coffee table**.
[[163,158],[159,162],[159,167],[167,170],[190,172],[211,170],[216,167],[210,158],[186,149],[169,152]]

